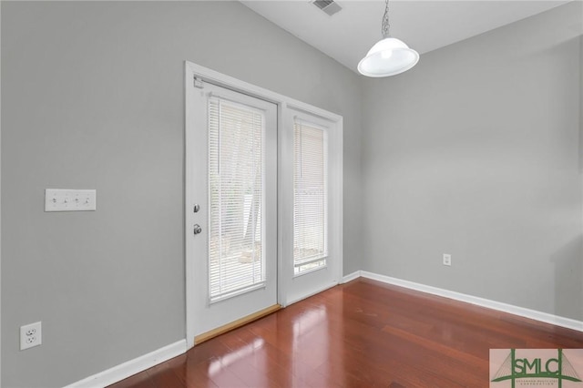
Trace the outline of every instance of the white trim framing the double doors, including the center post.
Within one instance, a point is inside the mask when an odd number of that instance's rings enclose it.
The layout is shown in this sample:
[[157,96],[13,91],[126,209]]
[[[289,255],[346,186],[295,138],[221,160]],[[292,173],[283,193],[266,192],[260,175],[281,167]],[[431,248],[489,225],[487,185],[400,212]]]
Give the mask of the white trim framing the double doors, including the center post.
[[[192,306],[192,301],[196,297],[194,295],[194,287],[193,287],[193,280],[194,280],[194,263],[191,260],[192,257],[192,245],[191,245],[191,216],[192,216],[192,206],[194,205],[194,199],[192,198],[192,192],[190,189],[190,180],[192,177],[191,171],[191,162],[192,162],[192,155],[190,154],[189,150],[192,148],[192,144],[196,139],[194,138],[194,134],[192,133],[193,128],[193,112],[192,108],[189,107],[189,98],[194,93],[194,79],[195,77],[203,82],[210,82],[214,85],[218,85],[220,87],[227,87],[231,90],[238,91],[240,93],[258,97],[264,99],[266,101],[270,101],[278,106],[278,131],[281,134],[281,131],[284,128],[284,117],[286,117],[287,111],[289,108],[295,108],[299,110],[303,110],[304,112],[311,113],[312,115],[319,116],[326,118],[334,123],[336,123],[337,128],[339,128],[340,136],[336,137],[336,144],[335,146],[338,149],[343,149],[343,142],[342,142],[342,128],[343,128],[343,117],[336,115],[334,113],[328,112],[324,109],[319,107],[312,107],[312,105],[303,103],[301,101],[292,99],[290,97],[282,96],[278,93],[272,92],[271,90],[264,89],[262,87],[256,87],[251,85],[247,82],[240,81],[239,79],[226,76],[221,74],[217,71],[211,70],[210,68],[196,65],[192,62],[185,61],[185,262],[186,262],[186,341],[187,347],[191,348],[194,346],[194,309]],[[278,153],[282,152],[281,149],[281,137],[278,138]],[[279,157],[278,157],[279,158]],[[279,164],[279,163],[278,163]],[[279,169],[278,169],[279,173]],[[336,236],[333,240],[331,240],[331,244],[334,244],[334,249],[338,252],[338,260],[339,264],[337,266],[337,274],[336,274],[336,283],[342,279],[342,269],[343,269],[343,255],[342,255],[342,240],[343,240],[343,158],[342,152],[339,153],[338,158],[335,160],[335,166],[332,172],[335,176],[337,181],[339,182],[339,188],[335,190],[336,193],[336,200],[335,203],[337,204],[334,209],[330,209],[330,211],[334,211],[337,217],[337,221],[334,223],[332,228],[334,228],[334,235]],[[278,189],[281,188],[281,179],[278,178]],[[278,202],[281,202],[278,200]],[[281,205],[278,205],[280,207]],[[278,209],[279,210],[279,209]],[[278,216],[279,217],[279,216]],[[278,230],[281,230],[281,218],[279,218],[279,225]],[[282,271],[283,265],[281,262],[281,233],[278,236],[278,302],[285,306],[288,304],[286,301],[286,290],[284,289],[283,284],[284,281],[282,279]],[[333,285],[333,284],[332,284]]]

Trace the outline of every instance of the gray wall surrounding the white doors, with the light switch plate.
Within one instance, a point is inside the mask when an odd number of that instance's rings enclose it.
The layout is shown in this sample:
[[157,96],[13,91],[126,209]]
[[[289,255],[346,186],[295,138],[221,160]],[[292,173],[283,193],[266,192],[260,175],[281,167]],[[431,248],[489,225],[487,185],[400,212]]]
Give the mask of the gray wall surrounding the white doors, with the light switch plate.
[[[359,269],[360,80],[239,3],[2,2],[5,387],[73,383],[185,337],[184,60],[344,117]],[[45,213],[44,189],[97,189]],[[18,327],[43,322],[20,352]]]

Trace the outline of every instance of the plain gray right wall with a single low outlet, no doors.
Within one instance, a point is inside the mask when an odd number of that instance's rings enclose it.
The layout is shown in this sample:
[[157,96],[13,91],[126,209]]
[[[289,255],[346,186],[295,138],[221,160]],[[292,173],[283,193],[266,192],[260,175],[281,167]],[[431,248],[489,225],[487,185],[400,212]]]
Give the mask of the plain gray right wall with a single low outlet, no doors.
[[363,270],[583,319],[581,15],[364,81]]

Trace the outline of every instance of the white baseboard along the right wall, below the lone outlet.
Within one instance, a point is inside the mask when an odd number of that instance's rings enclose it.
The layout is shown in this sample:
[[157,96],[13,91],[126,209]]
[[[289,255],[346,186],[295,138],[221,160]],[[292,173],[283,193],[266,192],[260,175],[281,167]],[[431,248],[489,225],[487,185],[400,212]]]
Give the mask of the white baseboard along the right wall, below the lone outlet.
[[[559,317],[557,315],[549,314],[547,312],[530,310],[524,307],[518,307],[512,304],[502,303],[500,301],[490,301],[484,298],[478,298],[476,296],[467,295],[461,292],[448,291],[437,287],[426,286],[421,283],[415,283],[414,281],[404,281],[401,279],[392,278],[390,276],[379,275],[373,272],[360,271],[360,275],[363,278],[372,279],[373,281],[383,281],[384,283],[394,284],[395,286],[401,286],[415,291],[431,293],[437,296],[443,296],[445,298],[453,299],[455,301],[465,301],[466,303],[476,304],[478,306],[486,307],[488,309],[504,311],[521,317],[530,318],[532,320],[546,322],[557,326],[566,327],[568,329],[577,330],[578,332],[583,332],[583,322],[573,320],[571,318]],[[346,278],[352,276],[353,274],[348,275]]]

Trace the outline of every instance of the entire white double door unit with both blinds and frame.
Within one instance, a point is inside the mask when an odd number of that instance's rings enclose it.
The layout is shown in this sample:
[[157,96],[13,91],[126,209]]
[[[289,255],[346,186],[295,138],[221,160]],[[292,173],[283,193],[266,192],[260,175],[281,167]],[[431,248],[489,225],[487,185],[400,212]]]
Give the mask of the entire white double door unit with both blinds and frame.
[[191,347],[340,281],[343,119],[189,62],[185,91]]

